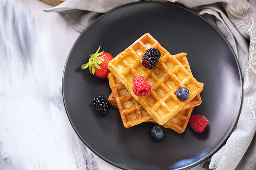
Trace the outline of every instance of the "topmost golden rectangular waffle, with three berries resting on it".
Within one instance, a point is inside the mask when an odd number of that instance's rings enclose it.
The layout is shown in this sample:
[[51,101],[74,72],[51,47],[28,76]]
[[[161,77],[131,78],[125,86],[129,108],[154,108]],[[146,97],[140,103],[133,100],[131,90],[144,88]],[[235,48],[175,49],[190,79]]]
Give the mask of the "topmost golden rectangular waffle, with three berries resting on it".
[[[145,51],[152,47],[161,53],[159,62],[153,70],[141,64]],[[203,85],[149,33],[144,34],[112,59],[108,68],[159,125],[172,120],[203,90]],[[145,77],[152,86],[147,96],[136,96],[133,93],[132,81],[138,75]],[[176,91],[180,87],[186,87],[190,91],[190,96],[185,101],[180,101],[176,97]]]

